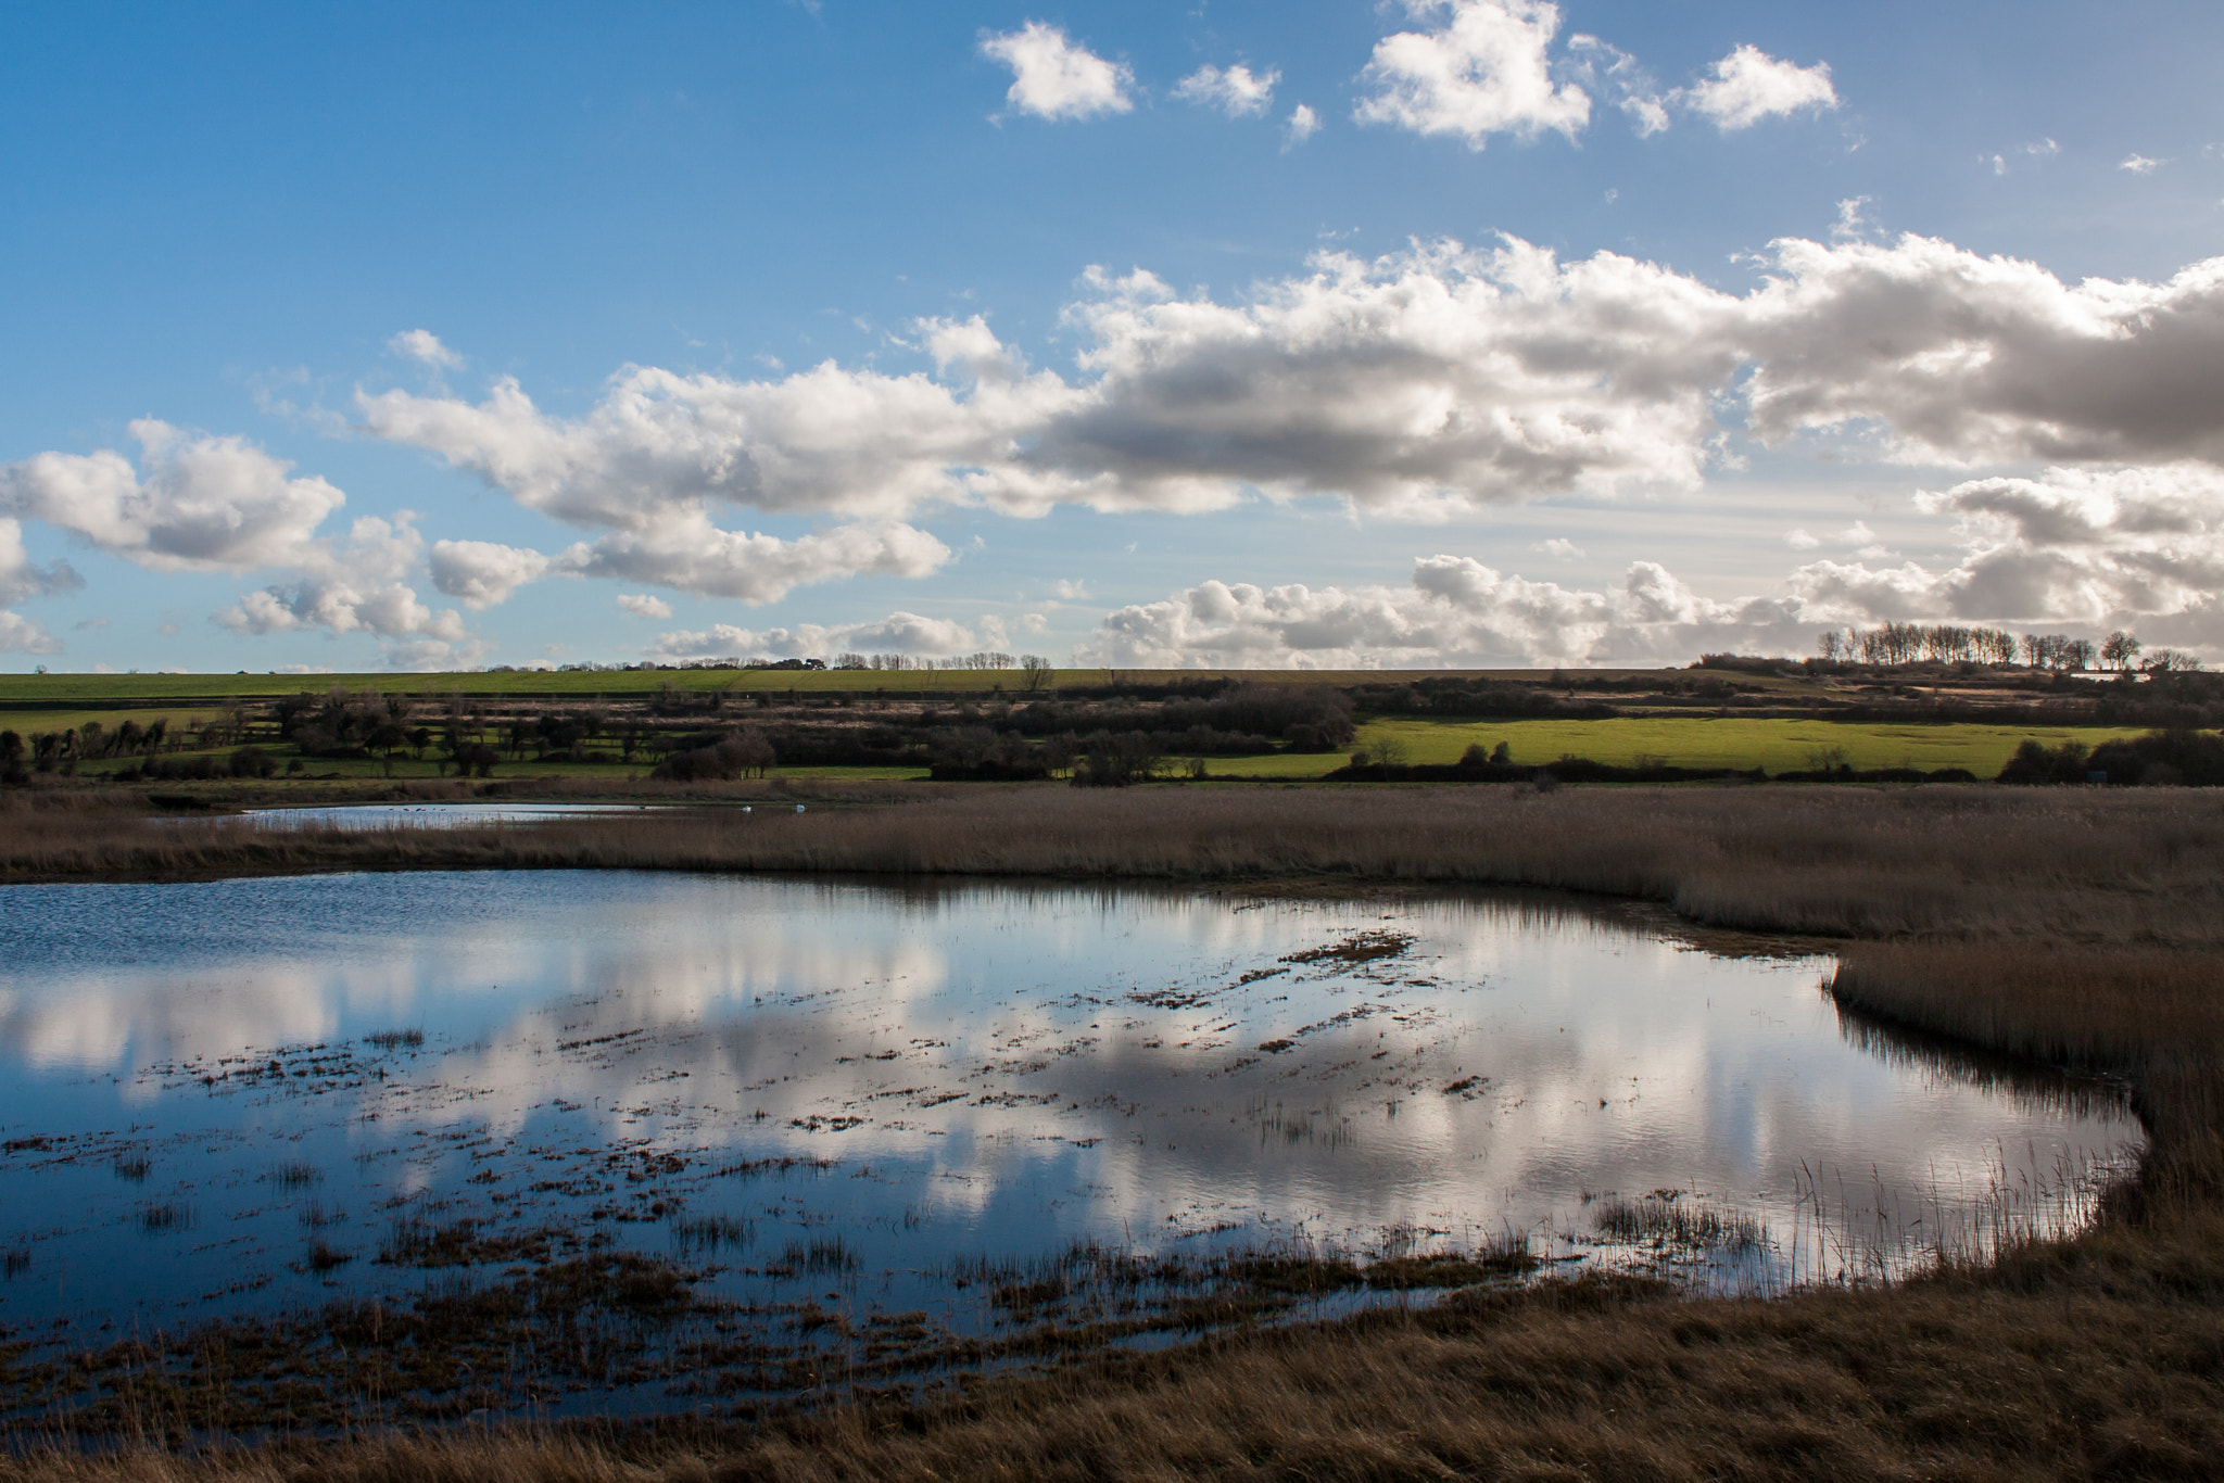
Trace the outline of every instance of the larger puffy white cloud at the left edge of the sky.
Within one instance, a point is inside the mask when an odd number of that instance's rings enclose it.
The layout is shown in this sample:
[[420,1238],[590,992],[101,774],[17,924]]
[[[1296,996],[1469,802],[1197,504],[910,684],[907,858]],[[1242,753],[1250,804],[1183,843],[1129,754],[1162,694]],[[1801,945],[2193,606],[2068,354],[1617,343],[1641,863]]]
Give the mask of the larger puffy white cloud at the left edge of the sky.
[[0,465],[0,516],[44,520],[151,571],[247,571],[311,558],[316,527],[347,502],[245,438],[189,438],[131,422],[140,467],[111,449]]

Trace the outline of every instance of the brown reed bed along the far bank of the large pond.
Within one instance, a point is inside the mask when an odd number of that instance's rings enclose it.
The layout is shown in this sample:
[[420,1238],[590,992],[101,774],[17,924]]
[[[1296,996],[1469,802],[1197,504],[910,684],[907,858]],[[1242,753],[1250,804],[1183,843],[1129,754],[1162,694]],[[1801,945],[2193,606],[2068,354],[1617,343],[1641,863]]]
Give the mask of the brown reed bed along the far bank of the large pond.
[[[758,794],[763,798],[763,794]],[[894,800],[892,800],[894,798]],[[758,869],[1537,885],[1859,938],[2224,945],[2224,798],[2002,787],[945,787],[471,829],[0,809],[0,880]]]

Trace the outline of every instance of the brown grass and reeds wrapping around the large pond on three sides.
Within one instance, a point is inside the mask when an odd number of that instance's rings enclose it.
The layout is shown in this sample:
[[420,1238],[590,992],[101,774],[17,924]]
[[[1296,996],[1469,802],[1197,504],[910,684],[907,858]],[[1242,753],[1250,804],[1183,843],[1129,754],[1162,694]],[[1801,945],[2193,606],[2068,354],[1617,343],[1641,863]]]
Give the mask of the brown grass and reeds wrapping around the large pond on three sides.
[[[454,836],[0,814],[0,878],[696,867],[1548,885],[1824,932],[1841,1003],[2131,1078],[2102,1225],[1890,1292],[1586,1281],[749,1432],[447,1434],[0,1479],[2202,1479],[2224,1459],[2224,798],[2008,789],[1072,789]],[[42,827],[40,827],[42,825]]]

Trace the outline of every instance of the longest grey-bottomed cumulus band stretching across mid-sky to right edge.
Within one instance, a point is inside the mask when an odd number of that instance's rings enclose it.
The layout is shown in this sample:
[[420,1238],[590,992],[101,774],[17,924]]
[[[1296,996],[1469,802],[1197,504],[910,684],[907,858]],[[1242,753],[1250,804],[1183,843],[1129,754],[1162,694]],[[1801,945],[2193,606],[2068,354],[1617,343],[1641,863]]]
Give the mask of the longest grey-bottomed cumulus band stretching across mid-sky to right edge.
[[[1857,207],[1855,207],[1857,209]],[[834,362],[776,380],[627,367],[578,418],[514,380],[483,402],[363,396],[365,429],[427,447],[523,505],[609,531],[629,580],[770,591],[723,567],[921,574],[936,505],[1043,514],[1343,496],[1441,518],[1492,500],[1688,489],[1761,442],[1844,438],[1913,462],[2224,462],[2224,260],[2164,282],[2066,285],[1935,238],[1781,240],[1744,293],[1601,251],[1501,240],[1374,260],[1321,253],[1243,302],[1090,271],[1072,376],[985,320],[930,320],[936,371]],[[729,505],[856,522],[796,551],[727,536]],[[643,551],[672,576],[656,576]],[[638,571],[638,576],[629,576]]]

